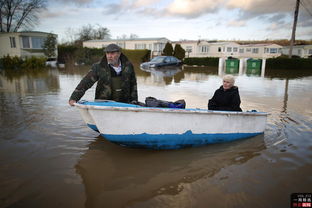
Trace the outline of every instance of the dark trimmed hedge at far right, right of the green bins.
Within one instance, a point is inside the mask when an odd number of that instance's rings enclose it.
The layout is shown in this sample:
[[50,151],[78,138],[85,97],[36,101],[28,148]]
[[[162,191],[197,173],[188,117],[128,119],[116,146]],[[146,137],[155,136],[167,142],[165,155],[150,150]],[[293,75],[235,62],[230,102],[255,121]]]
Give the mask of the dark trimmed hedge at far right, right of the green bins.
[[267,69],[311,69],[312,70],[312,59],[311,58],[270,58],[266,60]]

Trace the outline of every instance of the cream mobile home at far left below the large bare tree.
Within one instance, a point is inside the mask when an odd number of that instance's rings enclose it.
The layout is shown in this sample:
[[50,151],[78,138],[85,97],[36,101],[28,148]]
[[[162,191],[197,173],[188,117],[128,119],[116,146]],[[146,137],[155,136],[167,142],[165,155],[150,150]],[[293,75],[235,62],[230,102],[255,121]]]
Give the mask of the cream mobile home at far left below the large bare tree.
[[[31,56],[43,57],[43,43],[49,34],[51,33],[36,31],[0,33],[0,57],[6,55],[21,58]],[[56,34],[53,35],[57,38]],[[55,48],[57,57],[57,47]]]

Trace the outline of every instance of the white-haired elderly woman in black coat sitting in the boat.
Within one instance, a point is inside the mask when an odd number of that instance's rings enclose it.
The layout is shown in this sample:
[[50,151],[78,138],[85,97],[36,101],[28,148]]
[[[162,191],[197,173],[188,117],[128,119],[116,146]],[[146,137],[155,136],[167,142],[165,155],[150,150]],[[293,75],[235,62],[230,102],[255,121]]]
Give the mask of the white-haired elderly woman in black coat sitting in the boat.
[[235,79],[232,75],[223,77],[223,85],[217,89],[208,102],[208,110],[242,111],[238,87],[234,86]]

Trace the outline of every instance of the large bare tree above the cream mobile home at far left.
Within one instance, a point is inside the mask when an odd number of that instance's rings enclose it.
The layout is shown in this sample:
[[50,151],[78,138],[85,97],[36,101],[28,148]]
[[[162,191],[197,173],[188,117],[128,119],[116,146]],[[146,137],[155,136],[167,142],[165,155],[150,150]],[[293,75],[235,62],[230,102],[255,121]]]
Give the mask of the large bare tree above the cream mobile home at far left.
[[17,32],[38,23],[38,13],[47,0],[0,0],[0,32]]

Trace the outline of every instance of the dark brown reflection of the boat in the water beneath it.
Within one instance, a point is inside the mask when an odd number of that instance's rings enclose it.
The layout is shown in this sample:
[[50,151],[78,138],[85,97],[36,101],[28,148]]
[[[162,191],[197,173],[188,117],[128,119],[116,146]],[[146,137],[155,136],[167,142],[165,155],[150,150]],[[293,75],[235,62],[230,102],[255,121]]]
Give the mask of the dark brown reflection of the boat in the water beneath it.
[[[76,169],[85,184],[86,207],[136,207],[161,195],[179,195],[187,184],[246,163],[265,148],[263,135],[177,151],[129,149],[98,137]],[[165,207],[161,202],[153,206]]]

